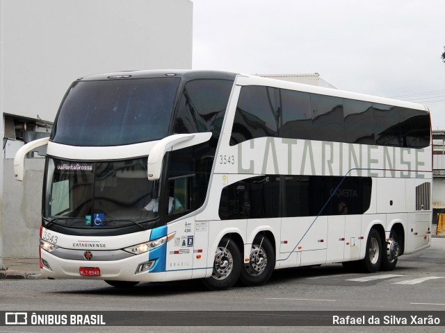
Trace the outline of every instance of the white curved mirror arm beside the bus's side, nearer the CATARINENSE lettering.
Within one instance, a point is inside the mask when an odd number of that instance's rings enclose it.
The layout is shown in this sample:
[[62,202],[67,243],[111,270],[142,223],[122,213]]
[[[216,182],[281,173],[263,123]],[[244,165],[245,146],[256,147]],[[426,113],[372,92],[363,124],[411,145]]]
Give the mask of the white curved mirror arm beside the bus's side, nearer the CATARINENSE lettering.
[[167,151],[195,146],[209,141],[211,133],[175,134],[156,142],[148,155],[147,175],[148,180],[158,180],[161,177],[162,161]]

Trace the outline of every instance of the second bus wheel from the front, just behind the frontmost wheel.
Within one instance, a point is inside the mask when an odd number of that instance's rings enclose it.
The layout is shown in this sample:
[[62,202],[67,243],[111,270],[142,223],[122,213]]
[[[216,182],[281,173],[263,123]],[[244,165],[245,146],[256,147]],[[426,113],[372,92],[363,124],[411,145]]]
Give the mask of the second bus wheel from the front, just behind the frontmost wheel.
[[249,259],[241,268],[241,283],[253,287],[268,282],[275,268],[275,251],[268,238],[261,235],[254,238]]

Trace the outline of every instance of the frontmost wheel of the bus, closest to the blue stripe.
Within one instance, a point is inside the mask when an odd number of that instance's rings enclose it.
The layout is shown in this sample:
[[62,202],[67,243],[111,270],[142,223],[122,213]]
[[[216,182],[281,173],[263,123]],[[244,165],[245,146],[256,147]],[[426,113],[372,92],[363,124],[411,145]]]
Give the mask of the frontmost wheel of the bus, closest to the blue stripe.
[[211,277],[202,279],[210,290],[223,290],[232,287],[241,271],[241,254],[231,239],[224,237],[216,248]]

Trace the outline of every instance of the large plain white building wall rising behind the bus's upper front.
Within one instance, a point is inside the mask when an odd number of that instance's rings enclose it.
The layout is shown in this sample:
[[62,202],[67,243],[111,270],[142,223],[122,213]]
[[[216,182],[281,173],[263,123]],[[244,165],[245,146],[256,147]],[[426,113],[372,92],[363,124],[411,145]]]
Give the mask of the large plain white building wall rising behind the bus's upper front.
[[192,65],[189,0],[2,0],[3,113],[53,121],[73,80]]

